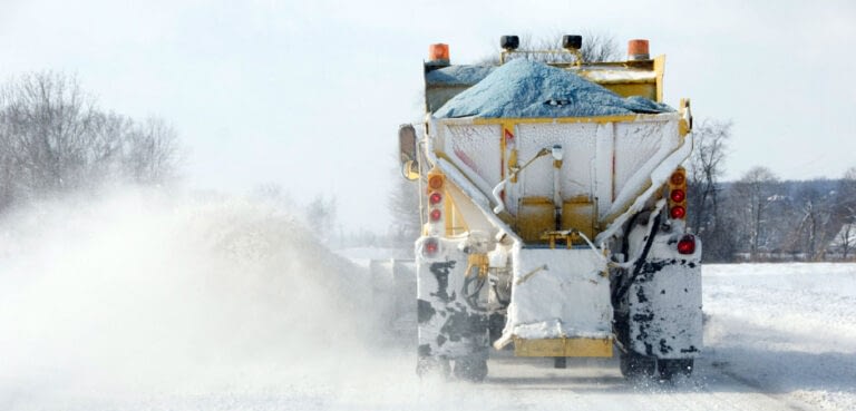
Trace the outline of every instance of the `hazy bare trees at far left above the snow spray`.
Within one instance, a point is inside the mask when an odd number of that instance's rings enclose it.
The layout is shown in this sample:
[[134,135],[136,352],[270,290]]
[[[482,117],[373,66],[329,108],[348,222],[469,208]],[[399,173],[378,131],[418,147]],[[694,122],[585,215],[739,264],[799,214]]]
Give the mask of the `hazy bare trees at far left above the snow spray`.
[[108,179],[164,183],[179,159],[169,125],[105,110],[74,77],[36,72],[0,86],[0,213]]

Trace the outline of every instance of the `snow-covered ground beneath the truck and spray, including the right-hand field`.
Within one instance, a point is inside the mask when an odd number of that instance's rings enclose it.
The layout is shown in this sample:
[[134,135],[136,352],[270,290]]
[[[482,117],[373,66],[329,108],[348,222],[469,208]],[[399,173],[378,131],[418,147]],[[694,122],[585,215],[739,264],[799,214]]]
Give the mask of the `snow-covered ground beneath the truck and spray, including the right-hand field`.
[[[615,360],[492,358],[483,384],[414,375],[409,351],[331,351],[317,362],[157,391],[0,388],[0,408],[198,410],[854,410],[856,264],[704,267],[704,355],[672,383],[629,383]],[[50,389],[47,389],[50,388]],[[47,390],[46,390],[47,389]]]

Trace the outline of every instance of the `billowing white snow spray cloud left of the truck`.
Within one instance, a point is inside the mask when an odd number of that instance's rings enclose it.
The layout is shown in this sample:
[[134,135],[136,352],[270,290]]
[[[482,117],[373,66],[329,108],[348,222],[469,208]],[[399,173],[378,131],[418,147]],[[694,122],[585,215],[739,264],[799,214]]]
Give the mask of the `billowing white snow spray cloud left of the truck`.
[[7,215],[0,405],[335,374],[327,353],[366,345],[370,288],[313,238],[266,205],[139,189]]

